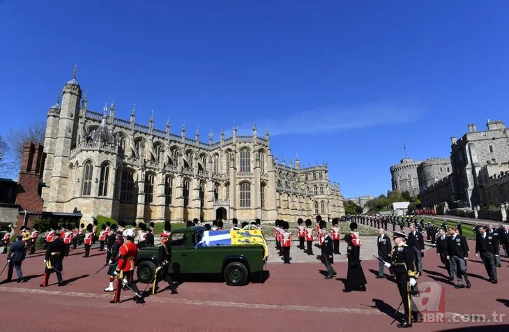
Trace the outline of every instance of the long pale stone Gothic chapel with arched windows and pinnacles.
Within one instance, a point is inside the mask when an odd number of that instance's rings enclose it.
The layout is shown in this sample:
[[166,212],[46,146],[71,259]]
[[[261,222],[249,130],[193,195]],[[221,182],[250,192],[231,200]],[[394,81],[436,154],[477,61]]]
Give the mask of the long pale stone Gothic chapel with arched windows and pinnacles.
[[[109,112],[108,112],[109,111]],[[115,220],[164,222],[198,218],[296,221],[320,214],[325,220],[344,214],[340,186],[328,167],[278,163],[268,131],[208,142],[87,108],[86,94],[73,79],[61,102],[47,113],[43,199],[45,211],[81,211],[82,222],[95,216]]]

